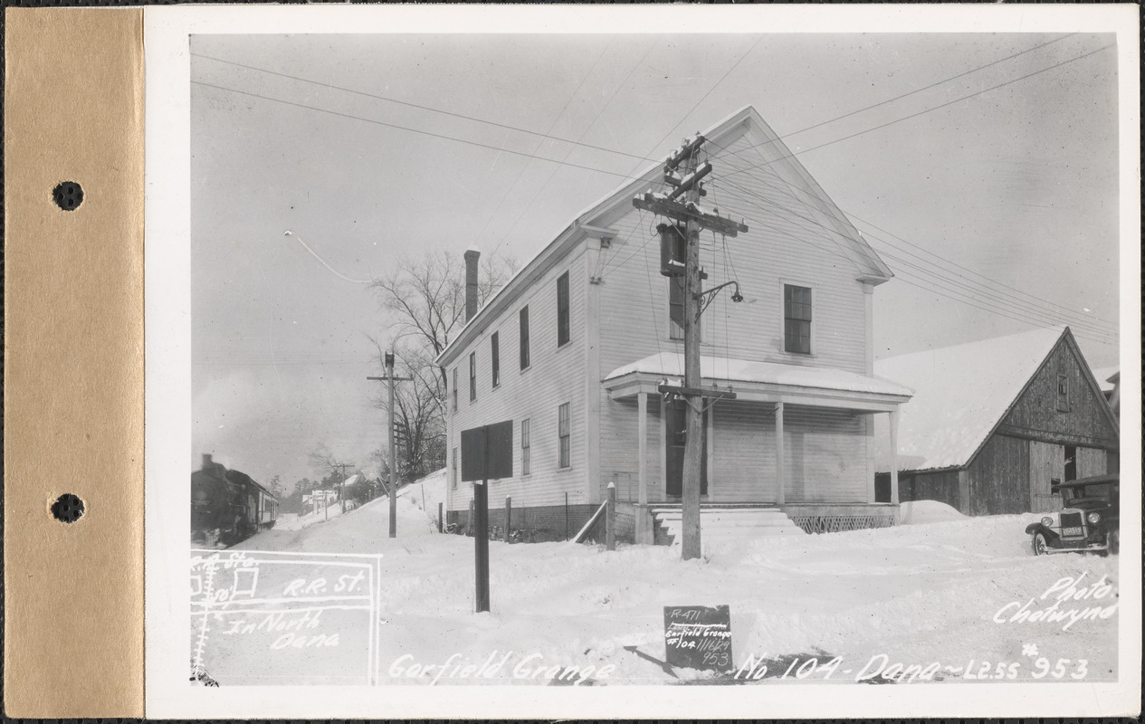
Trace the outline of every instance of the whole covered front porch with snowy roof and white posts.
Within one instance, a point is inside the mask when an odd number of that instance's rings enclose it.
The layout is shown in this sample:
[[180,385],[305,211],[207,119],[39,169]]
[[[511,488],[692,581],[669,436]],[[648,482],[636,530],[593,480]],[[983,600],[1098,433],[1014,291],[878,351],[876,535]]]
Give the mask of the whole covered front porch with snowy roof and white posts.
[[[638,510],[680,499],[686,402],[658,387],[681,376],[681,355],[661,353],[602,380],[621,453],[611,464],[603,456],[601,485],[614,482]],[[897,499],[875,498],[872,416],[889,417],[894,450],[910,389],[843,370],[714,356],[701,357],[701,377],[706,388],[735,393],[704,400],[702,505],[775,506],[814,532],[869,527],[897,510]]]

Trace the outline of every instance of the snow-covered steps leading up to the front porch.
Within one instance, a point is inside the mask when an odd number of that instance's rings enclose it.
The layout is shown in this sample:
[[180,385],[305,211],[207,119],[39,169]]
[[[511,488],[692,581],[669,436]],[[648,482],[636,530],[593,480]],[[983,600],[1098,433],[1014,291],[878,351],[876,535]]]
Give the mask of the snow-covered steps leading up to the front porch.
[[[681,540],[679,505],[652,509],[657,542],[676,545]],[[787,514],[769,505],[701,505],[700,528],[704,545],[780,535],[806,535]]]

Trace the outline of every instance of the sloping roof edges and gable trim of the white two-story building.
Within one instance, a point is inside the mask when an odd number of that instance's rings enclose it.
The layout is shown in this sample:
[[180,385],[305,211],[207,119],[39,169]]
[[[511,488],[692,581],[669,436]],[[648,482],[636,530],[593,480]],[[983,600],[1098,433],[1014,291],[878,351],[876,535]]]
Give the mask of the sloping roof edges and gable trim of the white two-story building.
[[[799,159],[791,154],[771,126],[756,112],[755,108],[747,105],[703,133],[704,139],[711,142],[711,147],[714,149],[710,154],[713,159],[719,159],[725,155],[728,145],[745,135],[751,141],[752,150],[763,159],[761,164],[749,165],[768,166],[792,188],[803,192],[804,197],[800,200],[808,204],[814,210],[813,213],[818,212],[816,215],[821,219],[824,228],[831,227],[828,230],[834,231],[832,238],[838,237],[835,239],[836,246],[854,266],[858,278],[871,284],[882,284],[894,276],[890,267],[867,244],[859,230],[827,196],[827,192],[807,173]],[[632,198],[649,188],[657,189],[662,184],[663,164],[653,164],[632,181],[621,184],[577,215],[556,238],[542,247],[485,301],[484,306],[466,322],[457,336],[445,346],[445,349],[437,356],[436,363],[447,365],[456,360],[485,325],[513,305],[521,294],[526,293],[537,280],[559,263],[577,244],[586,238],[615,237],[608,226],[624,214],[632,212]],[[724,194],[725,196],[735,196],[734,192],[727,190]]]

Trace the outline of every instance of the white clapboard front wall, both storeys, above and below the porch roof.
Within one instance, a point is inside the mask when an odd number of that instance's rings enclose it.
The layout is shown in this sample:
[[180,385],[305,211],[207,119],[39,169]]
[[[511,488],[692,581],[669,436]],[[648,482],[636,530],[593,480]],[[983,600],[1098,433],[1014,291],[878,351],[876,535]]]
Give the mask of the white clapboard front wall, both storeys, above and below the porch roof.
[[[701,266],[711,289],[739,281],[745,301],[720,292],[701,322],[701,354],[867,373],[863,284],[869,272],[844,251],[843,228],[827,204],[814,203],[806,186],[787,170],[763,166],[720,182],[720,174],[758,163],[748,136],[727,149],[712,148],[714,172],[708,206],[743,217],[750,231],[736,238],[701,235]],[[740,156],[733,156],[737,154]],[[758,176],[759,179],[752,179]],[[837,213],[837,212],[835,212]],[[800,217],[806,217],[803,219]],[[660,238],[653,214],[631,210],[609,223],[617,231],[602,252],[600,379],[611,370],[661,352],[684,352],[670,338],[669,281],[660,274]],[[828,228],[823,228],[828,227]],[[853,253],[853,252],[852,252]],[[733,272],[734,268],[734,272]],[[811,355],[783,352],[783,284],[813,290]],[[718,371],[717,371],[718,373]],[[635,403],[608,399],[601,389],[601,486],[615,479],[621,499],[637,493]],[[661,499],[660,403],[649,400],[649,501]],[[719,403],[711,441],[711,502],[774,502],[775,419],[771,406]],[[867,441],[861,417],[846,411],[797,408],[787,411],[788,499],[867,501]]]

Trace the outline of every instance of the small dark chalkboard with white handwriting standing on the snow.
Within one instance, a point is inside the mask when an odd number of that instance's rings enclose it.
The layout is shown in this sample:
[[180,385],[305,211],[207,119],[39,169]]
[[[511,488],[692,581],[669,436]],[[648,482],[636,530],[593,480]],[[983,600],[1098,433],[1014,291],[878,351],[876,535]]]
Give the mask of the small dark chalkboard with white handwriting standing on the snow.
[[732,611],[727,606],[664,606],[664,650],[669,666],[731,671]]

